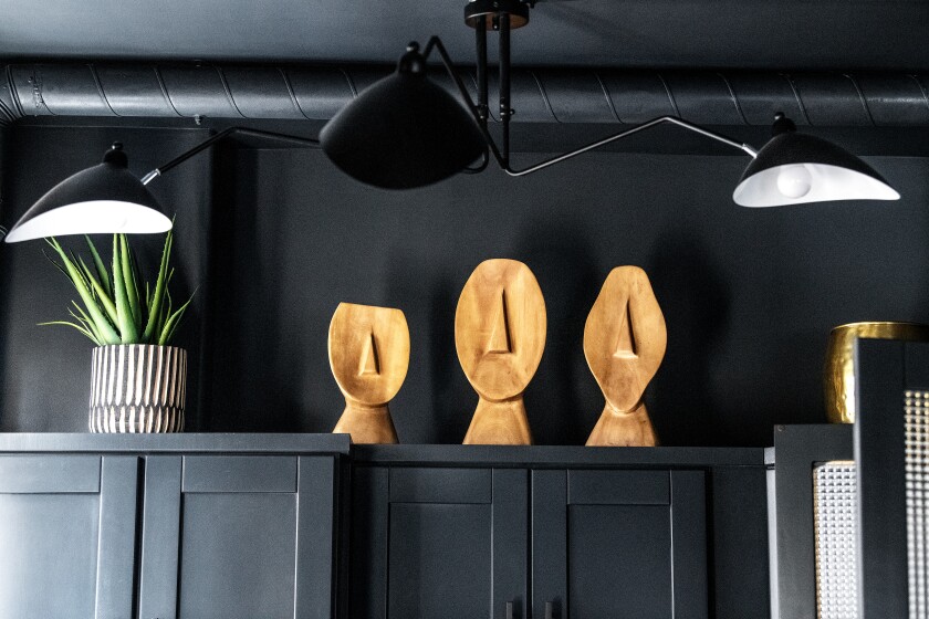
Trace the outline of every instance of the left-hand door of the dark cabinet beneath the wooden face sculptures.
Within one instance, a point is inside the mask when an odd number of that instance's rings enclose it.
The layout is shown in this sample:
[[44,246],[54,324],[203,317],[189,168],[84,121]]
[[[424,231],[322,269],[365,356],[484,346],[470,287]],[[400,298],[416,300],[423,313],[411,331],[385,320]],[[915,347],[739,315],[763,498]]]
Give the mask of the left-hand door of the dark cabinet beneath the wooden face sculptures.
[[358,468],[353,619],[515,619],[528,592],[525,470]]

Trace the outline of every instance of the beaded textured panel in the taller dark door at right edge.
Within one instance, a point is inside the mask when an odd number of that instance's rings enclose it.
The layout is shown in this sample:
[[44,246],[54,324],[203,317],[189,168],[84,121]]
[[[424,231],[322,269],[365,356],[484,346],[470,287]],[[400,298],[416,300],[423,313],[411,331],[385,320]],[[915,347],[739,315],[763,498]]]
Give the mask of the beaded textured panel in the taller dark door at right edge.
[[906,391],[907,566],[909,616],[926,619],[927,604],[927,499],[929,499],[929,391]]

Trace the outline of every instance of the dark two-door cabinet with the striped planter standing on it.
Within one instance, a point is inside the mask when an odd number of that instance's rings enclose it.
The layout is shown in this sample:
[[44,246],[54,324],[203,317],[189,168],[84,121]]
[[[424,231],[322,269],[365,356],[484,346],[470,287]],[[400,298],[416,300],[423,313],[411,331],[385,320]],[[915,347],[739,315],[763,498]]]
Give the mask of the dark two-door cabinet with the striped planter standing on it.
[[334,619],[347,437],[0,436],[0,619]]

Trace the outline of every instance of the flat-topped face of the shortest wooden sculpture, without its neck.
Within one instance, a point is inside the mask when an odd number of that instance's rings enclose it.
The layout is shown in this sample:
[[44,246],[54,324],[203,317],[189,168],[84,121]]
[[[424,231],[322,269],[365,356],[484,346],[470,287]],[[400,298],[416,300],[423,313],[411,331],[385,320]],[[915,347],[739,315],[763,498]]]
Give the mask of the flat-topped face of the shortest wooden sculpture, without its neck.
[[330,366],[347,399],[389,402],[409,368],[409,328],[399,310],[340,303],[330,323]]

